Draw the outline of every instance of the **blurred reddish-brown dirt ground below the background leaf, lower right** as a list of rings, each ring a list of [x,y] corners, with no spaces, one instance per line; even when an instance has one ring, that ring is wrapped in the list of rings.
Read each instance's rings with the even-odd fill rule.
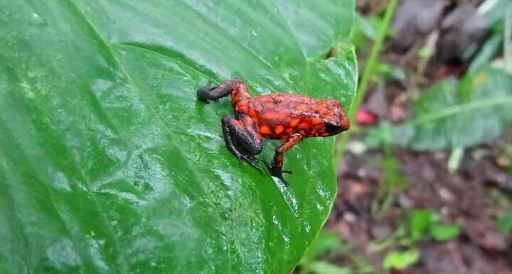
[[[499,197],[510,197],[512,179],[508,172],[485,156],[474,159],[469,151],[460,170],[450,174],[446,153],[415,153],[398,150],[395,157],[410,182],[407,190],[396,194],[392,207],[377,220],[372,217],[382,170],[383,155],[378,151],[353,155],[340,163],[339,191],[333,213],[326,225],[365,257],[380,272],[385,253],[372,252],[371,243],[385,239],[406,219],[407,209],[437,209],[441,219],[457,224],[462,233],[447,243],[421,241],[421,259],[404,273],[486,274],[512,273],[512,241],[496,229]]]

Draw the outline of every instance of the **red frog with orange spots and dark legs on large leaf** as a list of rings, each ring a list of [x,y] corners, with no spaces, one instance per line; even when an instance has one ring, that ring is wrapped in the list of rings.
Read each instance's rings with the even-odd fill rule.
[[[234,116],[223,116],[221,127],[225,146],[242,162],[258,170],[263,139],[281,140],[274,150],[274,157],[265,163],[270,175],[277,177],[288,186],[284,173],[284,153],[297,143],[311,137],[335,136],[350,128],[350,121],[343,106],[335,99],[315,99],[306,95],[284,92],[251,96],[247,84],[239,78],[211,82],[197,89],[199,101],[218,102],[230,96]]]

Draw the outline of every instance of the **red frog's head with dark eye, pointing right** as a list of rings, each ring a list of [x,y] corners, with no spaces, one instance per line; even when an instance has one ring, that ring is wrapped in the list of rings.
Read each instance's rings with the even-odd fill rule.
[[[336,100],[325,100],[319,111],[324,121],[326,136],[333,136],[350,128],[350,121],[343,106]]]

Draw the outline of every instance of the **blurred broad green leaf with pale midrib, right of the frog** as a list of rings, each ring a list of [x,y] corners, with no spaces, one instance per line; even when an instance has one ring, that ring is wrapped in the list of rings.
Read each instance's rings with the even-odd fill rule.
[[[512,75],[489,69],[459,84],[440,82],[413,108],[415,119],[394,128],[395,143],[415,150],[475,146],[512,123]]]

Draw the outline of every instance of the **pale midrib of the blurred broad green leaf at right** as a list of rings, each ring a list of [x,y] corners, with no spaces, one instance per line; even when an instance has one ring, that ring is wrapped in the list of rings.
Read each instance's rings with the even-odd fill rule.
[[[494,99],[479,100],[476,102],[470,102],[466,104],[457,104],[454,106],[444,107],[443,109],[428,114],[418,116],[407,124],[411,126],[417,126],[420,124],[426,124],[431,121],[445,119],[452,115],[461,114],[463,112],[474,111],[476,109],[485,109],[491,106],[498,106],[500,104],[512,104],[512,96],[499,97]]]

